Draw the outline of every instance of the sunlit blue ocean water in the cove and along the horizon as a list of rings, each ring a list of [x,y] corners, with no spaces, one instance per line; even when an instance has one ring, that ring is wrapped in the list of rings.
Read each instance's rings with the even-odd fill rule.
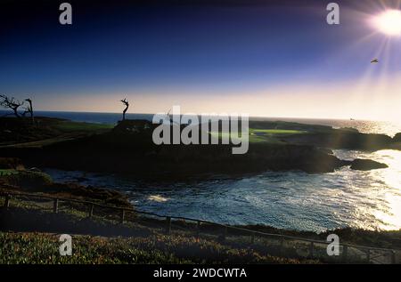
[[[116,124],[120,114],[37,112],[37,116]],[[151,120],[152,115],[127,118]],[[401,132],[386,122],[266,117],[306,124],[354,127],[363,133]],[[181,215],[229,224],[266,224],[291,230],[320,232],[353,227],[368,230],[401,228],[401,151],[334,150],[342,159],[370,158],[389,168],[359,172],[343,167],[334,173],[299,171],[258,173],[240,178],[215,177],[199,181],[145,182],[118,174],[45,169],[54,181],[80,181],[117,189],[136,208],[159,214]]]

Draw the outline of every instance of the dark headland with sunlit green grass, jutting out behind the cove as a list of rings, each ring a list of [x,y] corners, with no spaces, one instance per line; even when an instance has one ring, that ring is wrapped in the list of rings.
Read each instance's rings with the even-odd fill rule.
[[[47,166],[102,173],[129,173],[146,177],[201,175],[208,173],[258,173],[266,170],[303,170],[327,173],[351,162],[331,154],[332,148],[388,149],[397,141],[381,134],[332,129],[323,125],[284,122],[250,122],[250,149],[233,155],[232,145],[155,145],[152,125],[144,120],[125,120],[110,125],[73,123],[44,118],[26,139],[6,139],[0,156],[20,157],[29,166]],[[14,132],[15,129],[6,129]],[[25,131],[22,131],[25,132]],[[33,132],[29,135],[30,132]],[[46,133],[48,138],[38,140]],[[213,135],[211,133],[210,135]],[[18,138],[17,138],[18,137]],[[221,137],[221,136],[220,136]],[[210,136],[211,138],[211,136]],[[381,168],[372,162],[364,169]],[[353,168],[357,168],[354,165]]]

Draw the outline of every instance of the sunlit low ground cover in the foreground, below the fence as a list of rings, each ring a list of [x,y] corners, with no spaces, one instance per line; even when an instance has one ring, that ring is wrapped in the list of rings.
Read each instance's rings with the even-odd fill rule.
[[[59,236],[0,233],[0,263],[299,263],[231,248],[200,238],[155,235],[147,238],[73,236],[72,255],[59,254]],[[315,262],[315,261],[305,261]]]

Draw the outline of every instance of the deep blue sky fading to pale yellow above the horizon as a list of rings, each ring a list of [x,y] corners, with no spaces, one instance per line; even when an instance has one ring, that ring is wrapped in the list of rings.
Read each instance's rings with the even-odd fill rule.
[[[399,120],[394,1],[59,1],[0,4],[0,93],[35,109]],[[372,64],[371,60],[379,59]]]

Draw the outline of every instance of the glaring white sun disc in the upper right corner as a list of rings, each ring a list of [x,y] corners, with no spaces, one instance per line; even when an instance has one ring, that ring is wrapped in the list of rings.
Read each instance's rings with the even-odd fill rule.
[[[401,11],[388,10],[373,18],[373,25],[388,36],[401,35]]]

